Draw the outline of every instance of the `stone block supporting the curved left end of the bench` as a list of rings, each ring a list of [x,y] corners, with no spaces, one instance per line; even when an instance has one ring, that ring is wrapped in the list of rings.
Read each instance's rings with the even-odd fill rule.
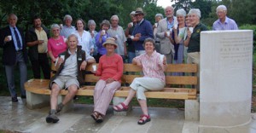
[[[26,91],[26,107],[35,109],[47,106],[49,106],[49,95],[40,95]]]

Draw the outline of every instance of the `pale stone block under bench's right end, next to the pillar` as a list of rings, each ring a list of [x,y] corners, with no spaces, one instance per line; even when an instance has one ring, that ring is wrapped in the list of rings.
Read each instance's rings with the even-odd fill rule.
[[[185,100],[185,120],[199,120],[199,100]]]

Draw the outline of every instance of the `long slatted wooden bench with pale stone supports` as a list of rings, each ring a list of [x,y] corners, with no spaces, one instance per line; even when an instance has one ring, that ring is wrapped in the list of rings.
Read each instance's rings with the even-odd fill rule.
[[[52,67],[52,69],[55,69],[55,68]],[[89,84],[89,85],[82,86],[79,89],[79,92],[77,95],[93,95],[95,86],[91,84],[96,84],[99,77],[96,77],[94,74],[90,74],[90,70],[91,70],[91,65],[86,67],[85,71],[88,72],[89,74],[86,74],[84,79],[85,84]],[[142,71],[141,68],[135,65],[132,65],[132,64],[124,65],[124,75],[121,78],[122,86],[114,94],[113,105],[116,105],[119,102],[125,100],[125,97],[128,95],[130,90],[129,84],[131,84],[134,78],[142,77],[142,75],[140,75],[141,71]],[[195,86],[197,84],[197,77],[192,76],[192,75],[196,75],[192,73],[197,72],[197,66],[195,64],[178,64],[178,65],[169,64],[167,66],[166,72],[168,73],[166,74],[167,75],[166,86],[168,87],[160,91],[145,92],[145,95],[147,96],[147,98],[185,100],[186,119],[198,119],[199,109],[195,107],[195,104],[198,104],[197,93],[196,93],[196,89],[192,89],[192,86]],[[183,72],[185,73],[185,76],[172,76],[172,72]],[[187,76],[187,75],[190,75],[190,76]],[[51,90],[49,90],[48,85],[49,85],[49,80],[46,80],[46,79],[30,79],[26,82],[25,89],[26,89],[27,107],[32,109],[32,108],[42,107],[44,105],[49,105],[49,95]],[[179,86],[183,86],[183,88],[178,88]],[[61,90],[59,101],[61,101],[65,95],[67,95],[67,90]],[[124,97],[124,98],[119,98],[119,97]],[[187,106],[187,101],[189,106]],[[72,105],[72,103],[70,104]],[[191,106],[194,106],[195,109],[193,107],[191,108]],[[193,113],[192,117],[190,113]]]

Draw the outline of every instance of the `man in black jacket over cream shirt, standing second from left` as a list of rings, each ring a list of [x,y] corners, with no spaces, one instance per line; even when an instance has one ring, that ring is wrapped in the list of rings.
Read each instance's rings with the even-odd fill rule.
[[[41,78],[40,69],[44,73],[44,78],[49,79],[50,68],[47,56],[47,43],[49,39],[49,30],[42,26],[39,16],[33,18],[32,28],[26,32],[26,45],[29,47],[28,55],[32,64],[34,78]]]

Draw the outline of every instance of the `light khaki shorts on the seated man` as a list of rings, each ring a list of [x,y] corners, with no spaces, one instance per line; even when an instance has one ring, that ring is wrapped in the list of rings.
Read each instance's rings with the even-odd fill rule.
[[[77,85],[78,88],[79,88],[79,81],[76,77],[71,77],[71,76],[57,76],[57,78],[55,78],[54,81],[52,81],[50,83],[50,88],[52,86],[52,84],[58,84],[58,86],[61,88],[61,89],[66,89],[70,86],[70,85]]]

